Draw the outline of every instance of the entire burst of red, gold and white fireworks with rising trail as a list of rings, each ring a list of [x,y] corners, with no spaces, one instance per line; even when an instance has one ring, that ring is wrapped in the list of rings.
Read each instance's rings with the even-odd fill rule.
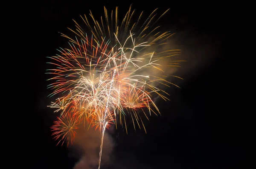
[[[49,107],[60,112],[52,126],[54,138],[62,144],[64,140],[72,143],[77,125],[87,121],[88,127],[94,126],[102,132],[99,168],[105,129],[120,123],[127,132],[125,117],[129,115],[134,129],[138,126],[145,130],[141,116],[148,119],[147,113],[160,114],[153,98],[168,100],[165,96],[168,94],[158,86],[175,85],[165,80],[167,75],[162,67],[179,67],[178,62],[183,61],[173,60],[169,65],[161,61],[180,53],[160,50],[173,33],[160,32],[160,26],[154,25],[167,11],[157,17],[155,9],[140,22],[143,12],[134,18],[135,10],[130,6],[121,24],[118,7],[110,15],[105,7],[104,11],[105,17],[100,21],[90,12],[92,24],[86,15],[81,16],[90,30],[88,34],[74,20],[76,29],[70,30],[76,36],[61,34],[69,40],[69,48],[60,48],[59,54],[49,57],[53,68],[47,70],[53,75],[49,79],[52,83],[48,88],[53,90],[49,97],[57,97]]]

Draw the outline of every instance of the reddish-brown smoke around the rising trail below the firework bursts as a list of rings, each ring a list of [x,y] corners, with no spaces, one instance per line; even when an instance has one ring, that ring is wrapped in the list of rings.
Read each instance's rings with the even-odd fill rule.
[[[70,147],[70,156],[79,158],[73,169],[97,169],[99,165],[101,132],[93,127],[88,129],[87,126],[87,123],[85,125],[83,123],[80,124],[79,129],[76,130],[77,135],[73,146]],[[108,133],[109,131],[111,129],[105,131],[104,134],[101,166],[111,163],[114,142]]]

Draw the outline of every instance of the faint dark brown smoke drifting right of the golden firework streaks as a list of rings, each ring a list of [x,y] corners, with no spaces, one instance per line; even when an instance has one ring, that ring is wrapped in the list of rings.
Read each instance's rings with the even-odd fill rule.
[[[169,45],[180,49],[180,55],[176,58],[186,60],[175,72],[185,80],[192,78],[204,67],[210,66],[220,57],[221,41],[218,35],[184,30],[177,32],[169,40]]]

